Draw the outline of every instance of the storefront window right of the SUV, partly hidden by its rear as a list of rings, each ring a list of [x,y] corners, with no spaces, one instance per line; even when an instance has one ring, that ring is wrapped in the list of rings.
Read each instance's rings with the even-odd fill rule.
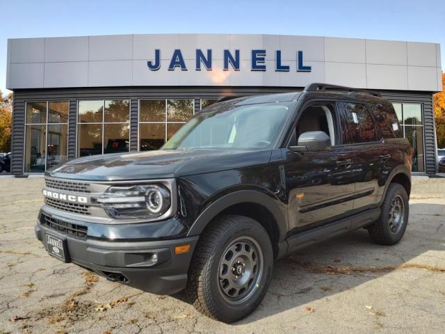
[[[425,171],[425,156],[423,154],[423,118],[422,105],[414,103],[394,103],[397,117],[401,123],[403,136],[411,143],[414,150],[412,156],[412,171]]]

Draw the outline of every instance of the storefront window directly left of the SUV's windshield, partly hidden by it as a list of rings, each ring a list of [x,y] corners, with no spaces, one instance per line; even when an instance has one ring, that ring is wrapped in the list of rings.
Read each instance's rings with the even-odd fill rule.
[[[140,100],[139,150],[158,150],[193,117],[195,100]]]

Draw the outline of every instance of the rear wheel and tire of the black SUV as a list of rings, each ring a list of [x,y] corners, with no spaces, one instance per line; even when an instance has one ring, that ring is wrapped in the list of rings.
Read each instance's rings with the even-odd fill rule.
[[[368,229],[371,239],[381,245],[395,245],[401,241],[408,224],[409,198],[401,184],[391,183],[382,203],[378,221]]]

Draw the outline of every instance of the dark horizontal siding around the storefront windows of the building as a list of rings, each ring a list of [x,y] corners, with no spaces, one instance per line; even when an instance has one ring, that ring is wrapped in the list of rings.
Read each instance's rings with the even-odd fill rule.
[[[67,88],[67,89],[27,89],[15,90],[13,114],[13,174],[23,173],[24,160],[24,102],[31,100],[51,101],[70,100],[70,125],[68,154],[75,156],[76,147],[76,101],[95,99],[131,99],[130,149],[138,148],[138,99],[143,98],[194,98],[195,112],[200,110],[200,99],[218,99],[227,95],[246,96],[265,93],[285,93],[302,88],[282,87],[116,87],[116,88]],[[383,97],[391,102],[415,102],[423,104],[424,148],[426,154],[426,173],[433,174],[436,169],[434,118],[432,113],[432,94],[430,92],[403,92],[381,90]]]

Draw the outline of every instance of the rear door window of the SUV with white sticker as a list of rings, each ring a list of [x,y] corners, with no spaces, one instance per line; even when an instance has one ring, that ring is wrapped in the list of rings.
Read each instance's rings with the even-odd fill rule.
[[[343,143],[368,143],[377,141],[377,133],[371,114],[366,105],[343,103],[342,137]]]

